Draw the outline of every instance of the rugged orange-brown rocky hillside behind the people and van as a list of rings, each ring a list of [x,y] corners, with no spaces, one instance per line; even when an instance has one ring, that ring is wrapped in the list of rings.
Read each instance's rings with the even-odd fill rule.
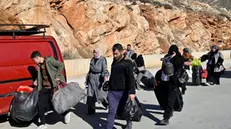
[[[205,51],[231,48],[231,13],[185,0],[1,0],[0,24],[47,24],[65,58],[105,56],[119,42],[142,54],[164,53],[171,44]],[[1,28],[6,29],[6,28]]]

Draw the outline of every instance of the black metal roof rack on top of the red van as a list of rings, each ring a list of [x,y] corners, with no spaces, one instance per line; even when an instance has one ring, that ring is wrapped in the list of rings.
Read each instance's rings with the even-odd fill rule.
[[[46,28],[48,27],[49,25],[43,24],[0,24],[0,36],[12,35],[13,38],[16,38],[16,35],[28,36],[42,33],[45,38]],[[11,30],[7,30],[7,28],[11,28]]]

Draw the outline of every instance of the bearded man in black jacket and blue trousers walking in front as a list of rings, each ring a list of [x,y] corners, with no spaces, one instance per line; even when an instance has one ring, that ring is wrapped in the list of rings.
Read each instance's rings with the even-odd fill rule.
[[[113,62],[111,65],[111,76],[109,79],[109,114],[107,129],[113,129],[115,116],[118,105],[121,101],[135,99],[135,84],[133,76],[133,64],[130,59],[123,55],[123,47],[121,44],[115,44],[112,48]],[[126,129],[132,129],[131,120],[127,120]]]

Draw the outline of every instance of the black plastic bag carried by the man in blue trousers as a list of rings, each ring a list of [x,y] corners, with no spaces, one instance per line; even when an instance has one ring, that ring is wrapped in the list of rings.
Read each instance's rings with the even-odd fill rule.
[[[142,115],[143,108],[139,100],[135,98],[135,100],[131,101],[128,98],[120,118],[123,120],[132,120],[139,122],[141,120]]]

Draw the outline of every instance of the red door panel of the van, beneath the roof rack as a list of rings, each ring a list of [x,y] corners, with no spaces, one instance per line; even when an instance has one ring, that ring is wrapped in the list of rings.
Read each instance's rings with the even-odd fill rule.
[[[30,56],[36,50],[42,56],[58,58],[51,41],[0,40],[0,96],[14,92],[20,85],[32,84],[32,77],[37,76],[37,66]],[[0,114],[8,111],[9,97],[0,97],[0,103]]]

